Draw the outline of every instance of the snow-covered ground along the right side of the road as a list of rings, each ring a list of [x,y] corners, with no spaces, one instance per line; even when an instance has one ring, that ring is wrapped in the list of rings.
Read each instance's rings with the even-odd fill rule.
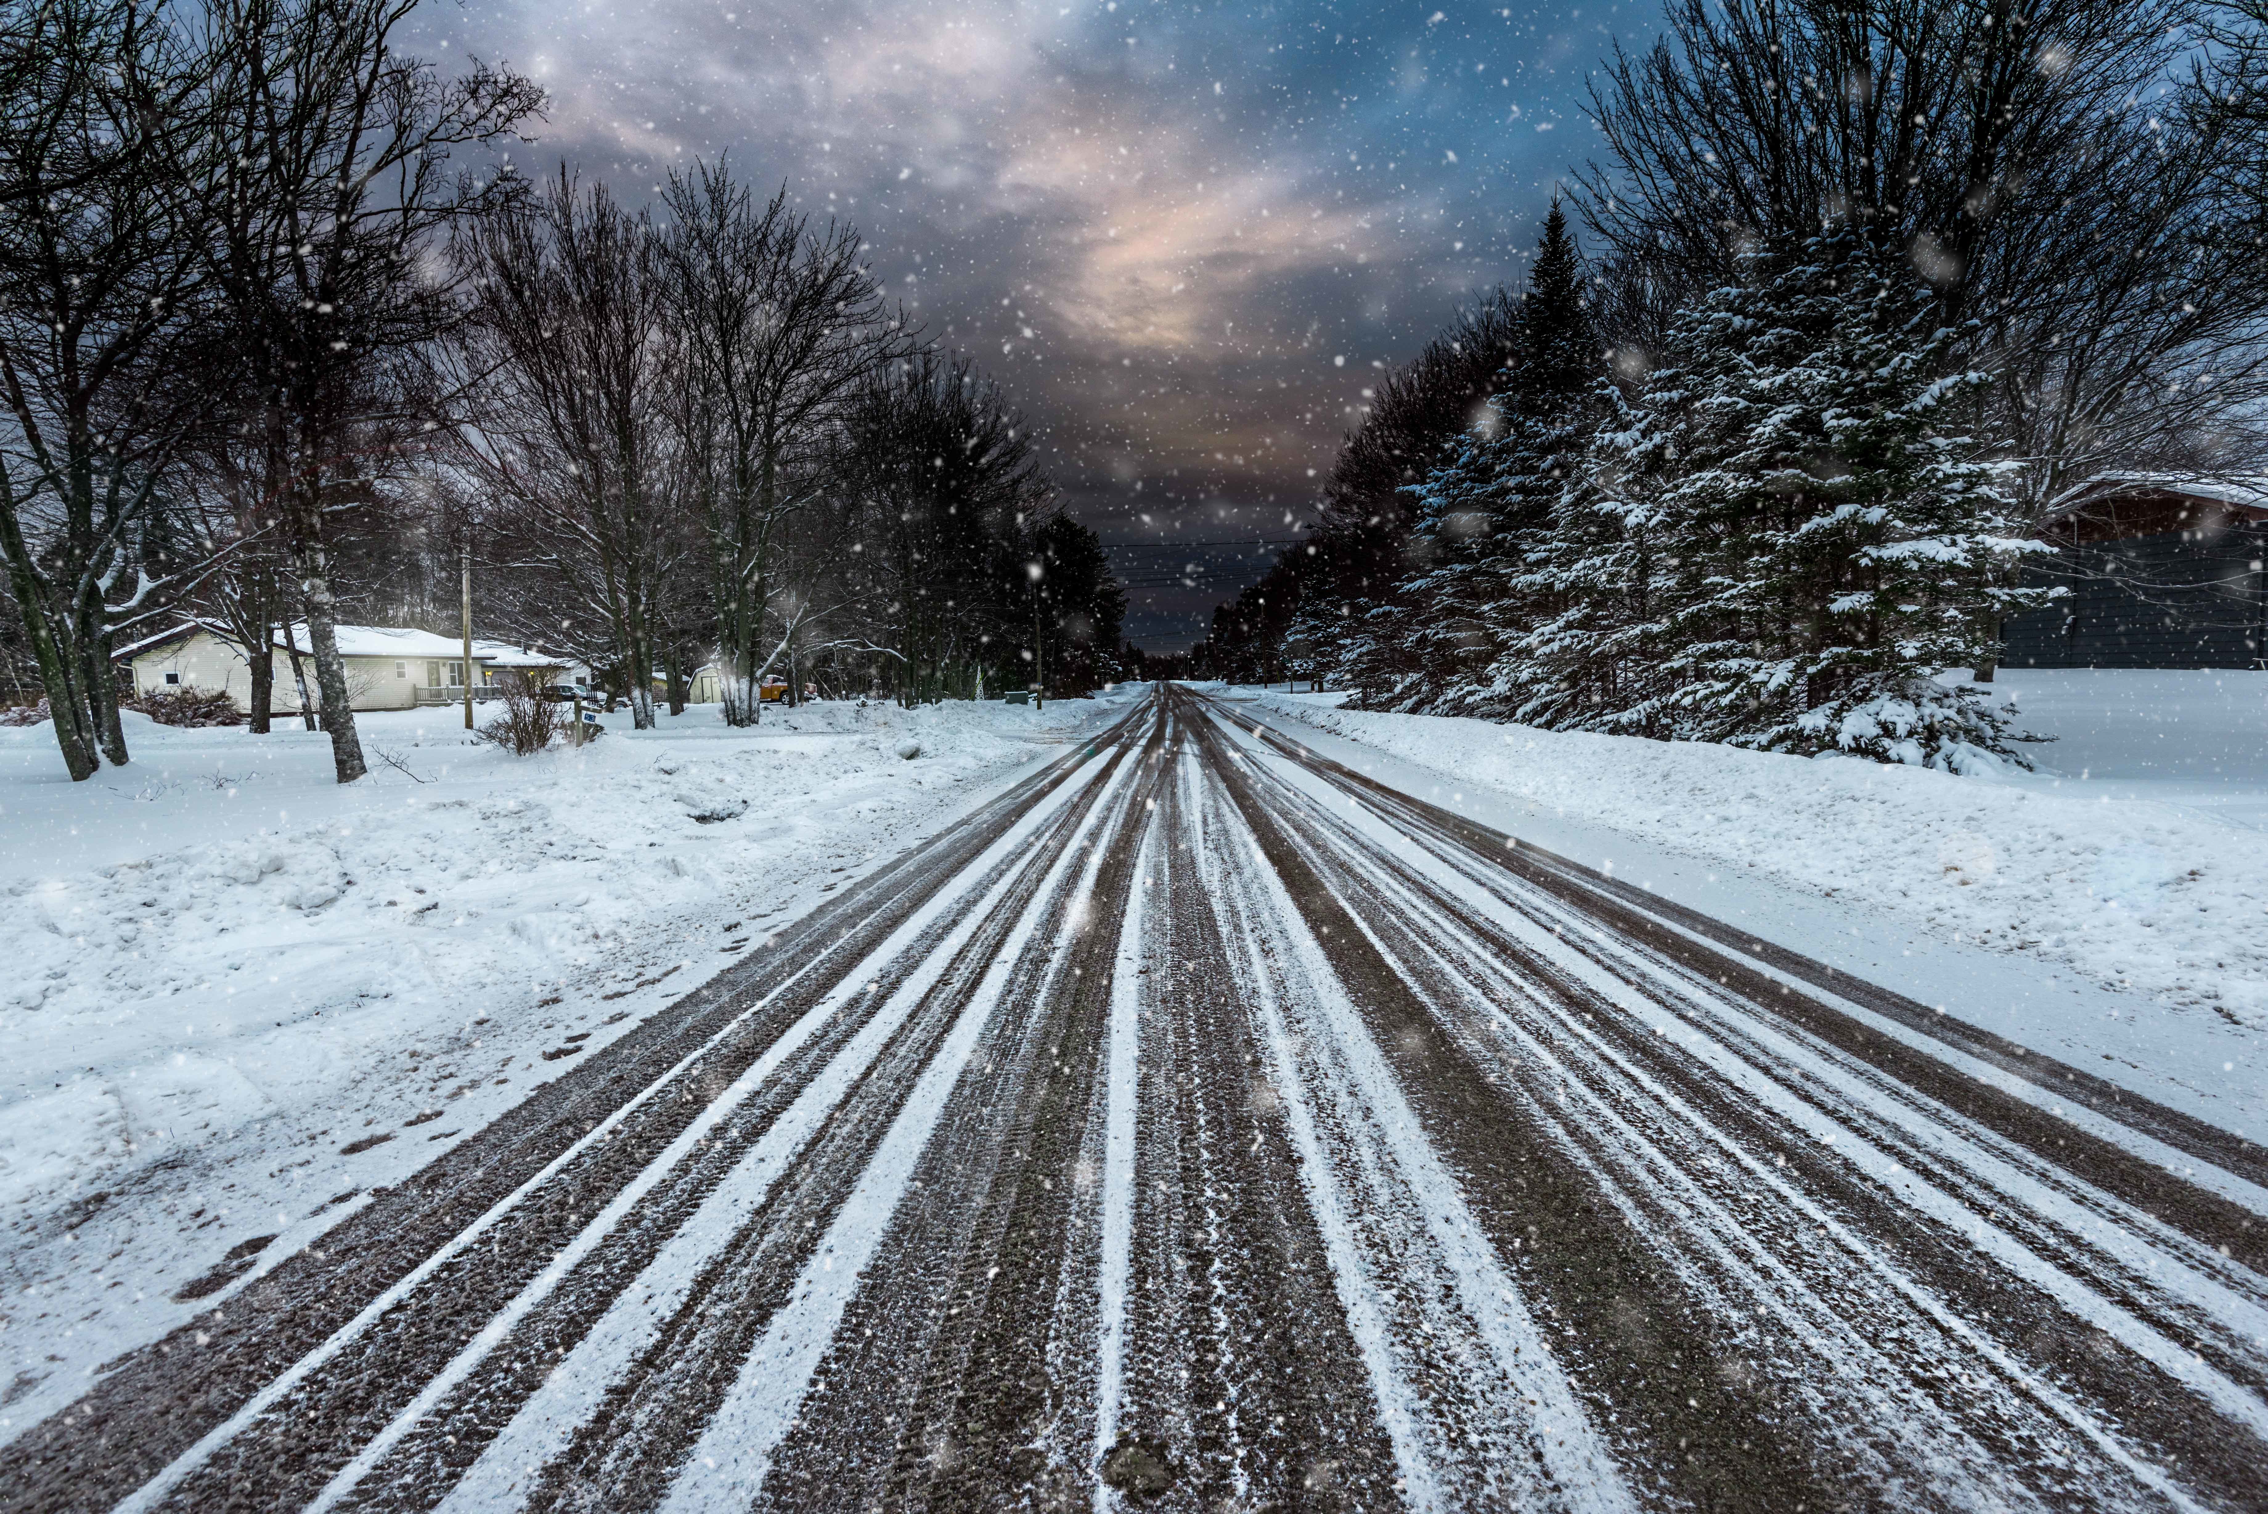
[[[2268,674],[2005,672],[2041,772],[1955,779],[1263,695],[1311,726],[1726,869],[2268,1026]],[[1803,942],[1787,942],[1803,949]],[[2254,1037],[2245,1037],[2248,1042]]]

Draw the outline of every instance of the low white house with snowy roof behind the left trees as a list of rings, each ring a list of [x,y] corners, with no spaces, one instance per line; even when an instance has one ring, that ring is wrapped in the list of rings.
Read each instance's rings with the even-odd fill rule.
[[[315,665],[306,626],[290,626],[306,672],[308,699],[320,701]],[[417,704],[449,704],[465,697],[465,642],[411,626],[338,626],[338,651],[347,663],[347,692],[356,710],[406,710]],[[274,704],[284,713],[299,710],[299,683],[293,676],[290,642],[277,631],[268,649],[274,667]],[[122,647],[118,663],[134,674],[136,692],[166,688],[220,688],[236,708],[252,706],[252,665],[245,649],[211,622],[181,622],[170,631]],[[474,638],[474,688],[497,672],[513,670],[538,683],[590,683],[590,667],[528,647]]]

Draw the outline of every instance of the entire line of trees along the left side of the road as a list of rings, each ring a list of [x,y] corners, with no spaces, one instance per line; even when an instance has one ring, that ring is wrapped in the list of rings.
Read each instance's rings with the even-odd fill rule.
[[[304,626],[354,781],[340,615],[456,629],[463,565],[483,631],[590,658],[642,726],[708,661],[735,722],[819,665],[903,699],[1116,674],[1100,547],[855,229],[723,166],[649,211],[524,179],[542,93],[401,52],[413,5],[0,7],[0,640],[73,779],[127,760],[113,649],[193,611]]]

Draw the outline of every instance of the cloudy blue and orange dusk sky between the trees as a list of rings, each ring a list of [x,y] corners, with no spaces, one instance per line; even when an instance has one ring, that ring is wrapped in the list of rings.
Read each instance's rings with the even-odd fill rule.
[[[640,200],[728,154],[857,225],[891,297],[1043,429],[1132,586],[1127,636],[1173,649],[1313,518],[1379,365],[1522,279],[1554,184],[1592,152],[1590,73],[1653,18],[440,0],[411,41],[551,91],[526,170],[565,159]]]

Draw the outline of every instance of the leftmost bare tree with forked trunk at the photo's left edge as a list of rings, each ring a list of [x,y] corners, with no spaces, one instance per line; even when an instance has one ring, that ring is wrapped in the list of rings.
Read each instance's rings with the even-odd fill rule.
[[[195,134],[206,59],[138,0],[9,11],[0,84],[0,556],[70,776],[127,760],[111,631],[202,395]]]

